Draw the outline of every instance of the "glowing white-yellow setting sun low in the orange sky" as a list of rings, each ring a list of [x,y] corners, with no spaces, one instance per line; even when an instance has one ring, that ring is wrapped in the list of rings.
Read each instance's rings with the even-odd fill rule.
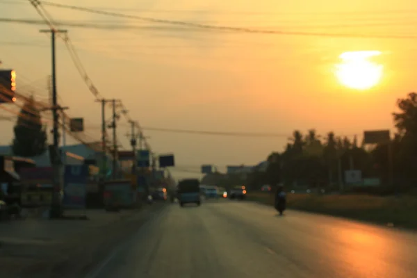
[[[338,81],[348,88],[367,90],[373,88],[382,78],[384,67],[369,59],[379,56],[379,51],[352,51],[339,56],[342,62],[336,65]]]

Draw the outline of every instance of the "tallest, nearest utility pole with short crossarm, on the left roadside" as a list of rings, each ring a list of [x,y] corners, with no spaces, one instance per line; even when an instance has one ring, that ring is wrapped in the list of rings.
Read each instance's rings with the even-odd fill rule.
[[[55,152],[55,155],[51,156],[53,159],[51,159],[51,164],[54,169],[54,195],[52,197],[51,202],[51,211],[50,211],[50,217],[51,218],[60,218],[60,216],[63,214],[63,206],[62,206],[62,191],[63,191],[63,184],[62,180],[63,172],[60,170],[62,161],[60,160],[60,154],[58,152],[58,146],[59,146],[59,132],[58,132],[58,109],[60,107],[58,106],[57,101],[57,92],[56,92],[56,60],[55,60],[55,37],[56,33],[67,33],[67,30],[57,30],[54,28],[48,29],[48,30],[41,30],[40,33],[51,33],[51,62],[52,62],[52,73],[51,73],[51,79],[52,79],[52,114],[54,118],[54,145],[52,152]],[[51,154],[49,154],[51,155]]]

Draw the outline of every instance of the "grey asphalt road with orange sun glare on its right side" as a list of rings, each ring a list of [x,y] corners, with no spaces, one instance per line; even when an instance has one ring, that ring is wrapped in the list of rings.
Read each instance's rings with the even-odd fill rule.
[[[88,277],[417,277],[417,234],[249,202],[172,204]]]

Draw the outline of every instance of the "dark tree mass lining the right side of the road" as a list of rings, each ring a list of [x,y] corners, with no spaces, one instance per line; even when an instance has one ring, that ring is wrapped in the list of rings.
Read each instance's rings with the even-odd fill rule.
[[[398,133],[390,142],[394,182],[398,184],[397,188],[409,190],[417,188],[417,93],[411,92],[407,97],[398,99],[397,105],[399,111],[393,113],[393,120]],[[275,183],[279,177],[280,181],[291,187],[295,184],[315,186],[317,183],[325,183],[323,186],[331,188],[332,183],[337,181],[334,178],[337,177],[340,160],[341,173],[353,167],[354,170],[361,170],[363,178],[378,178],[382,181],[383,186],[379,189],[346,187],[351,192],[389,192],[384,191],[389,189],[387,143],[366,149],[363,140],[358,142],[357,136],[351,141],[346,136],[339,137],[329,132],[321,140],[315,129],[309,129],[306,136],[303,136],[302,131],[295,130],[288,140],[284,152],[274,152],[268,156],[268,161],[272,162],[268,170],[265,173],[257,172],[253,177],[268,183]],[[280,161],[279,165],[277,160]]]

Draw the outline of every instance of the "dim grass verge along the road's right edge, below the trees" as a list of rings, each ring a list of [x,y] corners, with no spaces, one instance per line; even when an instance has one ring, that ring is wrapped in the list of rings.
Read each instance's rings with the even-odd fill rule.
[[[247,199],[274,204],[274,196],[268,193],[248,193]],[[300,211],[417,229],[417,197],[413,196],[288,194],[287,206]]]

